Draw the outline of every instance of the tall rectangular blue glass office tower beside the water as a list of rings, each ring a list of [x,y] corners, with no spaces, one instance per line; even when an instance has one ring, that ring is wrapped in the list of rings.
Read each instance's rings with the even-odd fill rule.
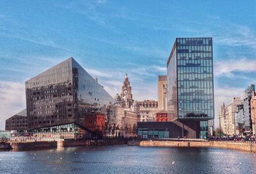
[[[176,38],[167,62],[168,114],[195,122],[198,138],[207,138],[214,119],[212,38]]]

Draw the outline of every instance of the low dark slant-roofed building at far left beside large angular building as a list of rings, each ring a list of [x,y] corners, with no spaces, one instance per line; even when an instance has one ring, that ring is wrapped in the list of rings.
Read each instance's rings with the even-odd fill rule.
[[[26,131],[28,130],[28,117],[26,109],[13,115],[5,121],[6,131]]]

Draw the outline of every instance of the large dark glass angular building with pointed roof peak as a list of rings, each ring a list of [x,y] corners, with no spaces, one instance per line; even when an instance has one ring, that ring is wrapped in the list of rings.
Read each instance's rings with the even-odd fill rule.
[[[47,136],[90,136],[88,111],[115,100],[73,58],[26,81],[28,129]]]

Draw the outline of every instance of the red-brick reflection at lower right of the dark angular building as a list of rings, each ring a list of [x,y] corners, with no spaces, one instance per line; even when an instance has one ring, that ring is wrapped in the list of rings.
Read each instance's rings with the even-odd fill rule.
[[[87,113],[84,117],[85,127],[90,131],[100,131],[104,135],[105,130],[105,115],[102,113],[94,112]]]

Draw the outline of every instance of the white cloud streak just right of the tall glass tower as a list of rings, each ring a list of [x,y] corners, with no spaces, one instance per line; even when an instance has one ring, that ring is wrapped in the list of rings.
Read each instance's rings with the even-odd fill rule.
[[[256,60],[249,59],[227,59],[216,61],[214,65],[214,75],[224,75],[234,77],[234,72],[256,72]]]

